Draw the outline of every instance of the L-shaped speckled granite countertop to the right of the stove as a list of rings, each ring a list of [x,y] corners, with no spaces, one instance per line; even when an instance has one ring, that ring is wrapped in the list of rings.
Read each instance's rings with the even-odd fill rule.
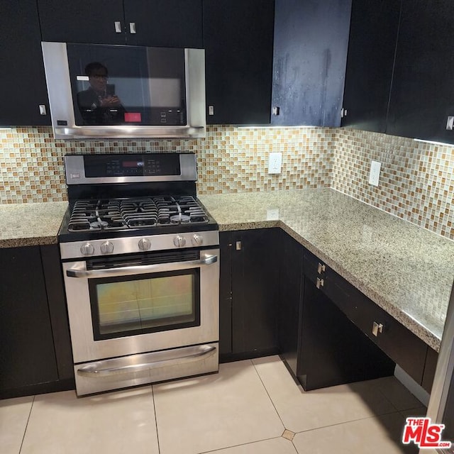
[[[439,350],[454,242],[333,189],[202,195],[220,231],[281,227]]]

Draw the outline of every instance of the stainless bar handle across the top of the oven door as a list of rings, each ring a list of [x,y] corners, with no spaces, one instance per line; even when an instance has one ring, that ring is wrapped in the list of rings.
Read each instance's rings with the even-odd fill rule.
[[[204,265],[212,265],[218,261],[217,255],[208,255],[201,260],[189,260],[188,262],[171,262],[157,265],[139,265],[132,267],[106,268],[105,270],[84,270],[70,268],[66,270],[68,277],[116,277],[143,275],[148,272],[186,270],[187,268],[198,268]]]

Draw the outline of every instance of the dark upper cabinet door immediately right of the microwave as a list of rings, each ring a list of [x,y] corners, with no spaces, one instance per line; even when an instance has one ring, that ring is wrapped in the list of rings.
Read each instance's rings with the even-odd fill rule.
[[[204,0],[207,123],[270,123],[274,4]]]

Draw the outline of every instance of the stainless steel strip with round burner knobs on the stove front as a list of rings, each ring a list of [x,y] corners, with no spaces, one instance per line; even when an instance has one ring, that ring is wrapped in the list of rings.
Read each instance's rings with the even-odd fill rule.
[[[60,253],[62,259],[73,259],[217,245],[219,245],[218,231],[203,231],[72,241],[69,243],[60,243]]]

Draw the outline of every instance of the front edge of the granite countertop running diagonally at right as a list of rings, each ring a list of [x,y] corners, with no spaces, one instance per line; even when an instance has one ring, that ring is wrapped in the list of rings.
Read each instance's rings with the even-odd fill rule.
[[[382,297],[382,295],[373,292],[369,287],[367,287],[367,285],[363,284],[360,279],[345,270],[342,265],[332,260],[328,255],[323,253],[323,251],[319,250],[319,248],[314,247],[314,245],[309,243],[309,241],[293,231],[292,228],[289,228],[289,226],[287,226],[282,221],[279,222],[279,227],[282,228],[282,230],[284,230],[286,233],[288,233],[289,236],[292,236],[294,240],[297,240],[298,243],[303,245],[307,250],[309,250],[309,252],[319,257],[320,260],[323,260],[323,262],[325,262],[328,267],[331,267],[331,269],[337,272],[338,275],[341,275],[344,279],[350,282],[350,284],[352,284],[354,287],[360,290],[360,292],[365,294],[367,298],[372,299],[372,301],[377,304],[377,306],[380,306],[389,315],[394,317],[394,319],[402,323],[402,325],[404,325],[412,333],[418,336],[421,341],[425,342],[427,345],[429,345],[429,347],[433,348],[433,350],[436,350],[437,352],[440,350],[441,339],[437,338],[433,333],[431,333],[431,331],[428,331],[428,329],[424,328],[421,323],[413,319],[411,316],[409,316],[409,314],[406,314],[406,312],[402,311],[391,302],[387,301],[387,299]]]

